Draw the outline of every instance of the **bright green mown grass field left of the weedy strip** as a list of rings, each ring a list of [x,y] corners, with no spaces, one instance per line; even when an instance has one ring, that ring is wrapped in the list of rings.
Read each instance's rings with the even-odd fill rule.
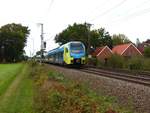
[[[0,113],[32,113],[33,87],[27,64],[0,65]]]

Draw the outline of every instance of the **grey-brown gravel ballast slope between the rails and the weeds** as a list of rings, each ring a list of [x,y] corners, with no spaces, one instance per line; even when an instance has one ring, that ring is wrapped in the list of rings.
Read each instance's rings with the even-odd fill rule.
[[[97,76],[74,69],[53,65],[49,65],[49,67],[71,79],[90,84],[92,89],[98,93],[118,97],[119,103],[133,107],[134,113],[150,113],[150,87]]]

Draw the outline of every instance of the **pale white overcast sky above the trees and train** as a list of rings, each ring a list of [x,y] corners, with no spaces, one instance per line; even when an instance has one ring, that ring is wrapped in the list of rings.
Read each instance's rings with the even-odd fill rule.
[[[123,33],[133,42],[150,38],[150,0],[0,0],[0,14],[0,26],[29,26],[28,55],[40,49],[37,23],[44,24],[47,50],[57,47],[54,36],[74,22],[104,27],[111,35]]]

